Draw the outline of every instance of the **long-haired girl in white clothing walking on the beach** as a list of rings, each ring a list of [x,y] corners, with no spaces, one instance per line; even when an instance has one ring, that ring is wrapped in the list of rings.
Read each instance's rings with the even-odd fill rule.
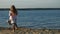
[[[17,10],[14,5],[11,6],[10,11],[9,11],[9,24],[13,25],[13,32],[15,29],[17,29],[17,24],[16,24],[16,19],[17,19]]]

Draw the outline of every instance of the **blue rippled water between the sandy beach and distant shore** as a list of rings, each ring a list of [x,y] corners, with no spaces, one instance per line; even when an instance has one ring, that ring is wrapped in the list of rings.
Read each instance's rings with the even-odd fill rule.
[[[8,27],[8,11],[0,10],[0,26]],[[60,29],[60,10],[18,10],[19,27]]]

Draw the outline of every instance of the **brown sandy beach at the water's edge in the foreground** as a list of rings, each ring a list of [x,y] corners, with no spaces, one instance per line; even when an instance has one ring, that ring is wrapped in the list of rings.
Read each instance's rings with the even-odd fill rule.
[[[60,34],[60,29],[30,29],[19,27],[12,32],[11,28],[0,27],[0,34]]]

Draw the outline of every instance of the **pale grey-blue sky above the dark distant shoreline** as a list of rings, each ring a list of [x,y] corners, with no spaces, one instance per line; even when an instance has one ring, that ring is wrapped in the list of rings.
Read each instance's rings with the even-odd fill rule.
[[[0,0],[0,8],[60,8],[60,0]]]

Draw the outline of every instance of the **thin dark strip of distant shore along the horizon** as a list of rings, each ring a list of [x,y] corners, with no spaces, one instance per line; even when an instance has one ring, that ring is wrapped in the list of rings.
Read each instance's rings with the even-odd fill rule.
[[[9,10],[9,8],[0,8],[0,10]],[[17,10],[60,10],[60,8],[17,8]]]

